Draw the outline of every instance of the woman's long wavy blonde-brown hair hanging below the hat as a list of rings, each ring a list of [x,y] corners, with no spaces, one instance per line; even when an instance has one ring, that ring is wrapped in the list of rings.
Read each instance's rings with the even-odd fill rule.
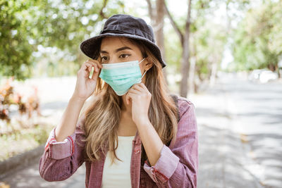
[[[149,120],[159,134],[161,141],[168,144],[173,138],[176,138],[178,109],[169,95],[166,82],[164,82],[161,63],[140,40],[129,40],[136,44],[140,48],[142,56],[153,64],[152,68],[147,70],[145,80],[145,86],[152,94],[148,112]],[[116,156],[115,150],[118,147],[117,130],[121,119],[122,104],[122,97],[118,96],[109,84],[98,77],[92,100],[87,101],[87,107],[83,112],[85,113],[83,128],[85,130],[86,160],[99,160],[101,157],[99,151],[102,151],[105,155],[104,149],[107,148],[112,151],[110,153],[111,163],[114,163],[115,158],[121,161]],[[147,154],[143,145],[141,153],[141,161],[144,164]]]

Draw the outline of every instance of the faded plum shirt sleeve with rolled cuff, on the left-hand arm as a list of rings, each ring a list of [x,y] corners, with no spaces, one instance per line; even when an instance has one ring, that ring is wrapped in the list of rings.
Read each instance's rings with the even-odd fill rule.
[[[82,125],[85,115],[81,115],[75,127],[75,132],[62,142],[56,141],[55,130],[51,130],[45,144],[44,153],[39,160],[39,174],[49,182],[66,180],[84,162],[83,150],[85,132]]]

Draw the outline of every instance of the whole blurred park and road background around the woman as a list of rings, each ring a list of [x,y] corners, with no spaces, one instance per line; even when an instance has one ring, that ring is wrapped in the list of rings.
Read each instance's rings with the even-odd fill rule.
[[[282,187],[282,1],[0,0],[0,187],[46,182],[39,157],[107,18],[143,18],[171,93],[196,108],[197,187]]]

